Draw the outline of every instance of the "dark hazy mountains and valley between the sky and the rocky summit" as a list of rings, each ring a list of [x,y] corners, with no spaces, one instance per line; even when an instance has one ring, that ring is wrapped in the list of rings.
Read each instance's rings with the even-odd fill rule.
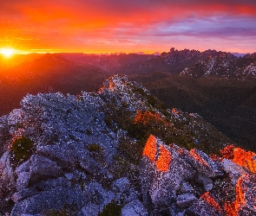
[[[255,54],[172,48],[159,56],[33,54],[23,60],[1,70],[0,116],[19,108],[27,93],[97,91],[103,79],[121,73],[147,86],[167,107],[198,112],[236,143],[256,149]],[[182,73],[185,68],[189,73]]]

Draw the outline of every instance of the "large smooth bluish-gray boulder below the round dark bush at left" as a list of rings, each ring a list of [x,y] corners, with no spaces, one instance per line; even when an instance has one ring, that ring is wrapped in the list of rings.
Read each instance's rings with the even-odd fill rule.
[[[30,157],[30,184],[38,181],[56,178],[61,174],[61,168],[56,162],[43,156],[33,155]]]

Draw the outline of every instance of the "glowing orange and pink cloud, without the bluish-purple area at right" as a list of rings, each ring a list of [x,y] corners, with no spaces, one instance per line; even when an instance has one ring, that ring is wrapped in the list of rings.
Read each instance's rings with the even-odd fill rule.
[[[187,43],[183,46],[188,48],[189,44],[192,44],[191,38],[187,37],[187,41],[184,41],[179,38],[182,35],[180,32],[177,33],[176,38],[171,37],[174,33],[160,37],[154,28],[157,29],[161,23],[171,26],[184,25],[185,22],[189,27],[189,22],[193,20],[205,21],[213,16],[224,15],[230,18],[251,17],[255,20],[256,3],[231,0],[214,2],[200,0],[179,2],[165,0],[1,1],[0,46],[4,44],[3,39],[7,38],[11,43],[17,43],[17,47],[27,49],[56,48],[68,51],[115,52],[139,51],[138,48],[142,48],[141,51],[145,51],[146,48],[157,51],[158,48],[158,51],[161,51],[161,48],[167,47],[168,41],[174,41],[178,45],[176,47]],[[225,21],[224,19],[222,22]],[[143,32],[146,34],[150,30],[156,34],[141,34]],[[200,33],[204,35],[203,31]],[[193,36],[191,32],[186,34],[182,36]],[[253,34],[250,33],[250,35]],[[200,35],[196,36],[200,37]],[[28,40],[23,40],[21,43],[18,38]],[[115,43],[114,46],[107,42],[111,40],[132,42],[123,47],[123,44]],[[202,46],[212,43],[213,41],[210,41]],[[226,46],[229,45],[226,43]],[[123,48],[126,50],[122,50]]]

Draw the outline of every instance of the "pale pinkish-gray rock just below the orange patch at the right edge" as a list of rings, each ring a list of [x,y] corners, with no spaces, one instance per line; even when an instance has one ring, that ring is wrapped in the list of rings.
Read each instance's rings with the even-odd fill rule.
[[[226,173],[230,175],[233,185],[236,185],[241,175],[248,174],[243,167],[228,159],[223,160],[222,166],[225,169]]]

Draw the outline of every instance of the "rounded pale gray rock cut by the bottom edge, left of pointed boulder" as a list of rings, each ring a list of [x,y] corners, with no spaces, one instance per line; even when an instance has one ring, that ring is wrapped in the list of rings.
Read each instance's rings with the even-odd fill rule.
[[[121,216],[148,216],[140,200],[134,200],[121,208]]]

